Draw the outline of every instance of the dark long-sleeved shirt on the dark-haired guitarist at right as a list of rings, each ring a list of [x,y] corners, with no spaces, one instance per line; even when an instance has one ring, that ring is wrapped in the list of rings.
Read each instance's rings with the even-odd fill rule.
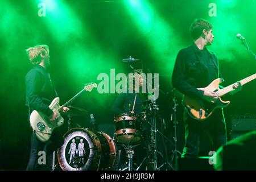
[[[179,51],[172,73],[172,85],[181,93],[201,98],[204,88],[218,78],[218,60],[207,48],[200,50],[195,43]]]

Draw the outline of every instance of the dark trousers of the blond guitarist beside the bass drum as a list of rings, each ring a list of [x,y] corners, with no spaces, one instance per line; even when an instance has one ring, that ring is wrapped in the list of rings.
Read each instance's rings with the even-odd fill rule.
[[[27,171],[32,170],[52,170],[50,162],[52,159],[49,159],[49,156],[52,156],[52,152],[59,148],[64,143],[64,139],[60,134],[58,129],[55,129],[52,133],[51,138],[47,142],[41,142],[36,138],[36,134],[33,132],[31,135],[31,148],[30,148],[30,158],[28,160]],[[38,160],[44,151],[46,154],[46,164],[39,164]]]

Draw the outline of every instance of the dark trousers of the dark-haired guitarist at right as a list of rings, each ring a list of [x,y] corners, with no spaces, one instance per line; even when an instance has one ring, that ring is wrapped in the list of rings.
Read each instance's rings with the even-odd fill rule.
[[[214,113],[205,121],[197,121],[184,113],[185,125],[185,146],[182,157],[195,157],[199,152],[204,151],[208,155],[209,151],[217,151],[222,144],[227,142],[226,124],[221,109]],[[202,143],[204,141],[204,143]],[[208,145],[208,147],[205,147]]]

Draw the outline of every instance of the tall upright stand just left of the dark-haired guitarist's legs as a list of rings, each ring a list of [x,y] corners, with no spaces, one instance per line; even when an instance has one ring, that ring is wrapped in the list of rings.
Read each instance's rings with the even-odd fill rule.
[[[177,158],[177,153],[179,153],[181,155],[181,153],[177,150],[177,114],[176,114],[176,111],[177,111],[177,106],[179,104],[177,104],[177,98],[176,98],[176,92],[175,90],[173,90],[174,92],[174,99],[172,101],[174,101],[174,107],[172,107],[172,110],[174,110],[174,118],[172,118],[172,115],[171,115],[171,120],[173,120],[174,122],[174,150],[172,151],[172,157],[171,157],[171,168],[175,170],[175,163],[176,163],[176,158]]]

